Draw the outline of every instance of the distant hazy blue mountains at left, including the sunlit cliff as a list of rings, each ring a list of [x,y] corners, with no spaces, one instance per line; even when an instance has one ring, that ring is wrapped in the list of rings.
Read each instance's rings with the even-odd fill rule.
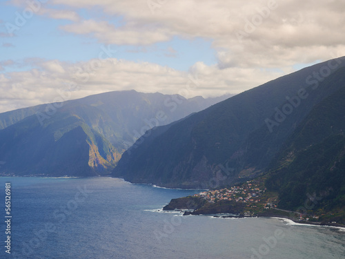
[[[0,114],[0,172],[108,175],[121,154],[154,126],[175,122],[228,96],[110,92]]]

